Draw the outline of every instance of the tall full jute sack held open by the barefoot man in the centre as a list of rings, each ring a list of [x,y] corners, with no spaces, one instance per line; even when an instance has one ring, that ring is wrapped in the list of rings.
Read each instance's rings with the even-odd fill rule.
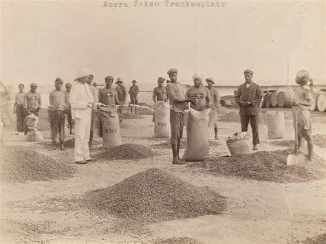
[[[182,159],[203,161],[209,155],[208,121],[210,109],[190,109],[187,118],[187,145]]]

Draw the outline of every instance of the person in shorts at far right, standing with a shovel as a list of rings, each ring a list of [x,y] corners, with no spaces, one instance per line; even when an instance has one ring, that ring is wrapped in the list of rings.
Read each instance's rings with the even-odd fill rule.
[[[308,162],[313,162],[314,140],[312,139],[312,116],[309,108],[313,105],[312,91],[314,90],[312,79],[309,78],[308,71],[301,70],[296,74],[296,84],[294,89],[294,98],[292,102],[293,115],[297,116],[296,124],[298,126],[298,145],[301,147],[302,137],[307,140]],[[296,126],[295,124],[293,124]]]

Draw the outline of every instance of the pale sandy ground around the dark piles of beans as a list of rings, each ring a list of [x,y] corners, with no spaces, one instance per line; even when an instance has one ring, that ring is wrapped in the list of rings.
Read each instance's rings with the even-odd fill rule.
[[[153,138],[152,116],[143,116],[144,119],[141,120],[124,120],[125,128],[121,130],[123,142],[150,146],[166,141]],[[314,122],[313,133],[325,134],[326,123],[321,123],[325,116],[318,116],[321,117],[318,122]],[[287,130],[282,140],[294,139],[292,121],[285,120],[285,123]],[[241,126],[237,122],[220,122],[221,139],[218,145],[210,147],[210,155],[228,155],[225,138],[240,129]],[[285,148],[270,145],[270,140],[266,138],[266,129],[267,125],[260,126],[259,150],[274,151]],[[45,132],[43,136],[45,140],[50,141],[50,133]],[[70,137],[72,136],[68,138]],[[212,129],[210,140],[213,141]],[[4,141],[7,145],[33,144],[24,142],[23,136],[8,131]],[[76,166],[73,149],[61,152],[49,151],[41,145],[34,146],[39,153],[50,155],[54,159],[65,157],[69,164],[78,168],[78,173],[63,181],[1,184],[1,223],[27,223],[34,226],[34,234],[30,236],[23,231],[2,233],[0,243],[14,238],[47,243],[150,243],[173,236],[192,237],[202,243],[294,243],[326,232],[325,180],[277,184],[201,175],[184,166],[173,166],[171,151],[158,147],[154,147],[154,150],[162,155],[152,159],[116,160]],[[287,148],[290,147],[292,145]],[[91,154],[95,151],[91,151]],[[316,148],[316,153],[325,159],[323,150]],[[213,188],[228,197],[227,210],[217,216],[207,215],[153,223],[147,226],[151,230],[148,234],[118,234],[110,229],[113,217],[98,217],[74,204],[67,204],[68,199],[80,197],[88,190],[112,186],[151,167],[174,173],[195,186]]]

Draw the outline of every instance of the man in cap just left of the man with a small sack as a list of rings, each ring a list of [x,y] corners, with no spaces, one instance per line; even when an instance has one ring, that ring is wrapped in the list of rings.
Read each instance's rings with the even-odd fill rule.
[[[19,93],[14,96],[14,113],[17,117],[17,135],[21,135],[24,132],[25,124],[25,111],[24,111],[24,85],[19,84]]]

